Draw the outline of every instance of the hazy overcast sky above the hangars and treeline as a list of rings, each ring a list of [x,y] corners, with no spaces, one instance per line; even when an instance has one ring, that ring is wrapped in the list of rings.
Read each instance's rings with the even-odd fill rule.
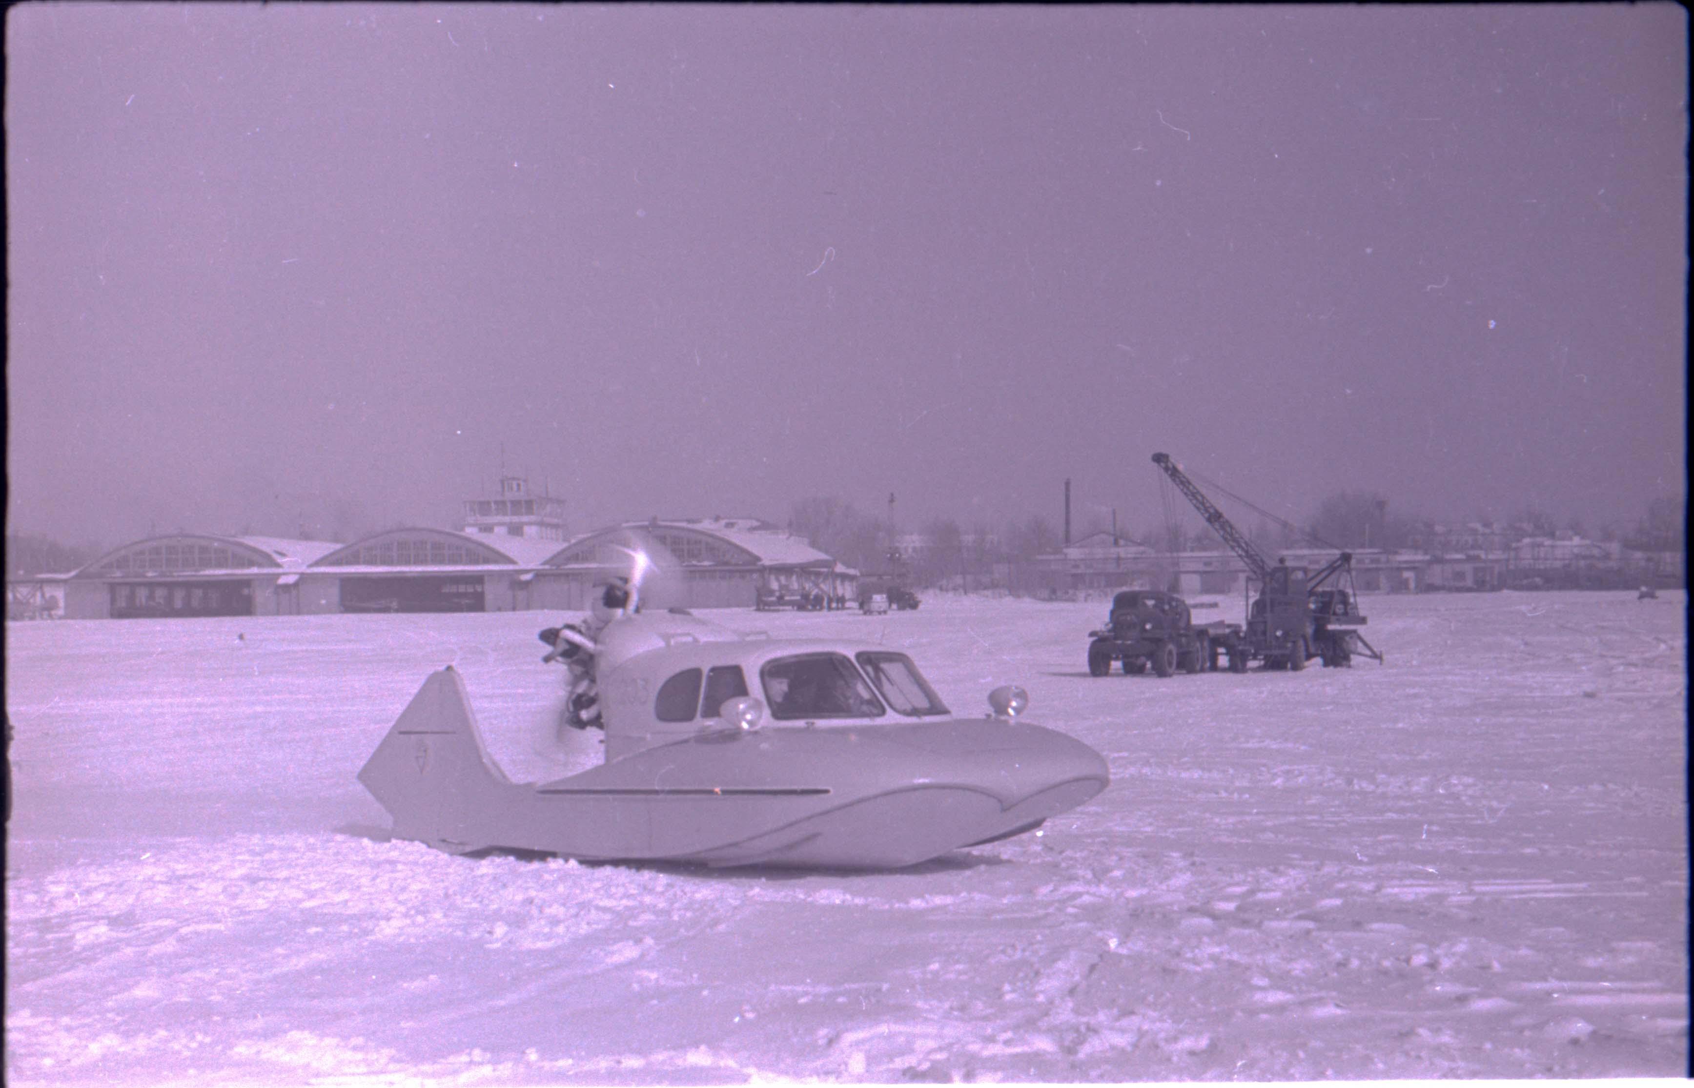
[[[1687,22],[25,5],[8,531],[1682,494]]]

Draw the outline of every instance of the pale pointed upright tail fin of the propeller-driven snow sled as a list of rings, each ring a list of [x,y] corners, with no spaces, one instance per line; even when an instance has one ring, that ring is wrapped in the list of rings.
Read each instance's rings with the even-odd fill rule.
[[[396,839],[451,853],[490,846],[478,827],[512,789],[483,748],[464,680],[451,665],[424,680],[359,770],[359,782],[395,817]]]

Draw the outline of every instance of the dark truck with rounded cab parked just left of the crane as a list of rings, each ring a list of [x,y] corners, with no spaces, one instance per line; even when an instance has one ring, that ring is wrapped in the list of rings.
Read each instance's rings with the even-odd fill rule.
[[[1247,672],[1240,624],[1194,623],[1187,601],[1155,589],[1127,589],[1111,599],[1106,626],[1089,631],[1088,672],[1103,677],[1113,662],[1135,675],[1152,667],[1160,677],[1204,672],[1228,655],[1230,672]]]

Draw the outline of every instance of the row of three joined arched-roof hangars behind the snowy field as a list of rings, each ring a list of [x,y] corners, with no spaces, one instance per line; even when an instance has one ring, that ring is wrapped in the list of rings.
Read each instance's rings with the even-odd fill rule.
[[[349,545],[178,533],[137,540],[76,570],[64,616],[581,611],[598,582],[630,569],[635,550],[659,570],[645,584],[657,607],[747,607],[762,594],[847,601],[857,579],[754,519],[637,521],[562,543],[434,528]]]

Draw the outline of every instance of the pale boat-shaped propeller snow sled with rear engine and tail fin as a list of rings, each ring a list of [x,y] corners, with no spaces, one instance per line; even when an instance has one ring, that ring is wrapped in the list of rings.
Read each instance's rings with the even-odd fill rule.
[[[605,729],[605,763],[512,782],[442,668],[359,772],[395,838],[461,854],[900,868],[1033,831],[1110,782],[1098,751],[1021,719],[1020,687],[959,717],[888,646],[644,613],[635,589],[605,587],[598,626],[542,633],[573,667],[567,724]]]

